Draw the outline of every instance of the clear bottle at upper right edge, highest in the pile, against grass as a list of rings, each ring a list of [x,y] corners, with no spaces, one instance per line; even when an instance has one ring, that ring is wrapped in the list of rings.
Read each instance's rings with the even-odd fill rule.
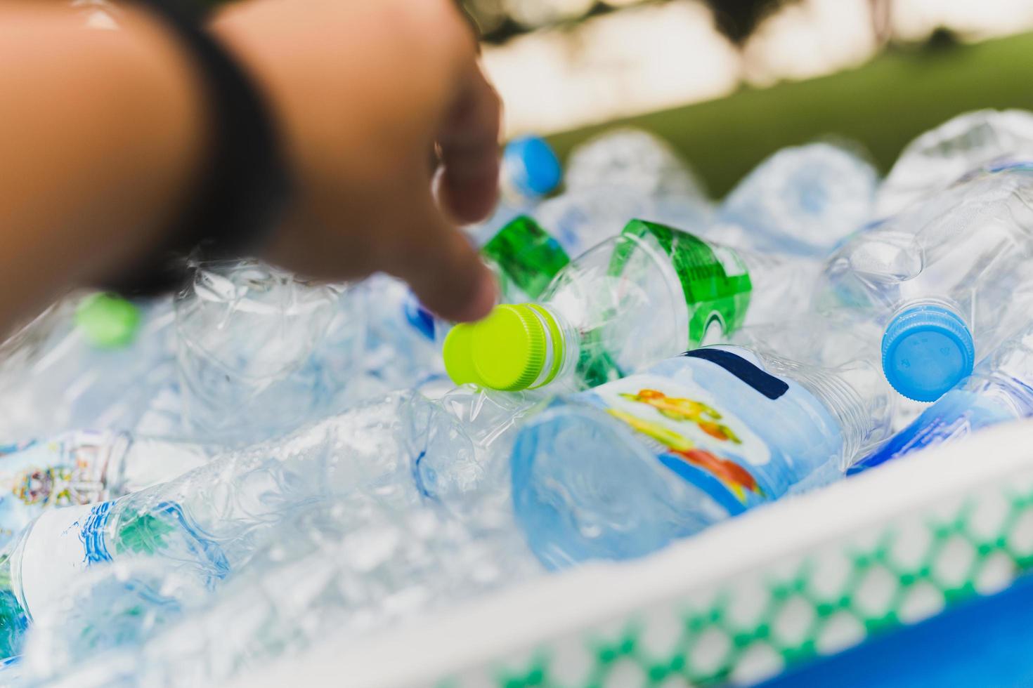
[[[984,109],[959,114],[904,149],[879,188],[878,216],[896,215],[974,169],[1026,160],[1033,160],[1033,113]]]

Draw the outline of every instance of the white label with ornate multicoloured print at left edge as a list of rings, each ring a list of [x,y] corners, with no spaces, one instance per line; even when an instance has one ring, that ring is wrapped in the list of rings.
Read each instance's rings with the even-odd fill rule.
[[[45,509],[108,498],[108,469],[128,445],[125,435],[76,431],[0,446],[0,543]]]

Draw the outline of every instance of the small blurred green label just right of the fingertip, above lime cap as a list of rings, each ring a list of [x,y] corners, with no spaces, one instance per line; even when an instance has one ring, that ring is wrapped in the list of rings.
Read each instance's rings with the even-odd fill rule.
[[[532,300],[538,298],[556,273],[570,262],[563,247],[526,216],[499,230],[480,253],[499,267],[503,294],[510,293],[512,285]]]

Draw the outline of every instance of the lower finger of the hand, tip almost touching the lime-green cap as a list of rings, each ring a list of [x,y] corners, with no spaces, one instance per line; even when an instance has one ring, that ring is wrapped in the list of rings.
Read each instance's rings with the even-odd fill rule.
[[[387,271],[409,283],[420,302],[442,318],[483,318],[495,305],[495,277],[430,198],[427,206],[421,226],[406,232],[405,248],[394,252]]]

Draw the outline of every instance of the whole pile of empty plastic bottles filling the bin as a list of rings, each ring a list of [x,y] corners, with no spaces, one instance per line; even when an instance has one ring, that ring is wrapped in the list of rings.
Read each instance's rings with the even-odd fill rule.
[[[224,681],[1033,415],[1026,160],[985,110],[714,202],[645,132],[523,138],[478,323],[257,262],[68,297],[0,349],[0,682]]]

